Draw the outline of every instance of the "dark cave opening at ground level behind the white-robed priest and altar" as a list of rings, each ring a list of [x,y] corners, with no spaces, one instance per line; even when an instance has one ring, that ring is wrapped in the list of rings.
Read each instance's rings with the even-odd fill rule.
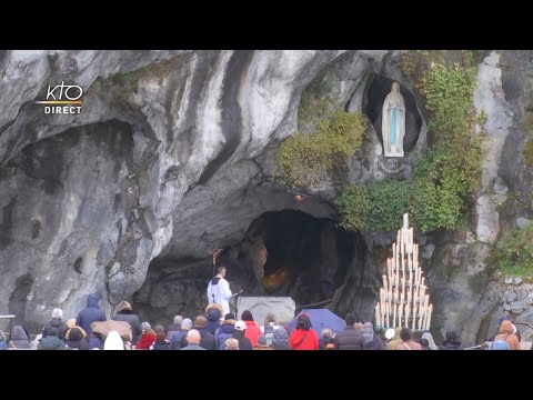
[[[134,307],[161,323],[175,314],[194,318],[208,304],[211,261],[208,254],[205,259],[165,254],[152,260],[143,287],[133,297]],[[296,309],[328,307],[344,314],[371,310],[375,298],[375,270],[362,234],[299,210],[260,214],[241,241],[223,248],[218,266],[227,267],[232,292],[244,289],[242,296],[248,297],[291,297]]]

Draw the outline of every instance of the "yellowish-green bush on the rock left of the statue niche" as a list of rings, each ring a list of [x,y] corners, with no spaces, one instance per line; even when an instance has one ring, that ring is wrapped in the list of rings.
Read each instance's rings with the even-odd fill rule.
[[[366,124],[361,113],[335,110],[316,122],[314,133],[296,132],[278,148],[280,178],[296,188],[328,178],[360,149]]]

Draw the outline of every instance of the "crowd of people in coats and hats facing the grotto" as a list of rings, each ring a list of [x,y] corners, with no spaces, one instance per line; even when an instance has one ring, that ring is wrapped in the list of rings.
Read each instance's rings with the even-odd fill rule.
[[[345,328],[333,332],[329,328],[316,332],[308,314],[296,319],[293,330],[276,323],[272,313],[258,324],[252,312],[245,310],[237,319],[231,312],[223,314],[217,303],[210,303],[204,312],[194,318],[175,316],[167,328],[141,320],[129,302],[122,301],[114,316],[125,321],[131,333],[110,331],[107,336],[94,332],[93,322],[105,321],[99,309],[97,296],[89,296],[87,308],[77,319],[63,321],[61,309],[52,311],[51,320],[42,332],[30,340],[28,330],[16,324],[9,339],[0,332],[0,350],[462,350],[455,332],[446,332],[445,340],[436,346],[430,332],[415,340],[409,328],[388,329],[383,337],[375,332],[371,322],[359,321],[355,314],[345,316]],[[499,328],[490,338],[491,348],[520,350],[520,332],[509,318],[499,321]]]

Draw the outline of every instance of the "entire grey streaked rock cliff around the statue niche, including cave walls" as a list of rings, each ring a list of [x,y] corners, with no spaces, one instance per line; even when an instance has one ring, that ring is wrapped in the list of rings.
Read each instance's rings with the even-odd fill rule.
[[[168,324],[204,309],[208,250],[223,249],[233,290],[291,296],[296,306],[330,300],[341,316],[372,319],[392,236],[342,232],[335,183],[294,192],[273,179],[272,156],[302,128],[302,92],[324,79],[335,106],[372,121],[348,180],[409,179],[426,149],[426,121],[398,54],[1,51],[0,313],[37,332],[53,308],[76,317],[97,292],[109,317],[129,299],[143,319]],[[533,219],[524,150],[533,138],[532,58],[492,52],[480,66],[474,101],[487,113],[489,138],[472,227],[416,237],[436,337],[455,329],[473,343],[501,312],[531,316],[530,282],[502,282],[485,259],[502,229]],[[404,159],[382,154],[378,111],[392,80],[410,110]],[[61,81],[83,89],[81,113],[44,114],[33,103]],[[290,231],[299,213],[304,229]],[[292,256],[280,252],[284,244]]]

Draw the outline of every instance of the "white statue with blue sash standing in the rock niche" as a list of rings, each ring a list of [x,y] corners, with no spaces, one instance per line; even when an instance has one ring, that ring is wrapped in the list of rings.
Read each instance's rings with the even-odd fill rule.
[[[381,121],[383,149],[385,157],[403,157],[403,137],[405,136],[405,103],[400,93],[400,83],[392,83],[391,92],[383,102]]]

